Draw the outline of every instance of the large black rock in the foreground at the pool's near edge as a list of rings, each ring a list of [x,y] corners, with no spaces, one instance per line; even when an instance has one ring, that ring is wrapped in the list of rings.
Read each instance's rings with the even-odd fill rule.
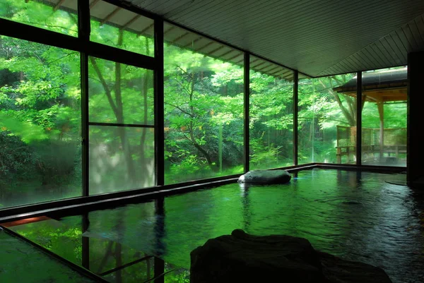
[[[240,229],[206,241],[191,258],[191,283],[391,283],[381,268],[315,251],[307,239]]]

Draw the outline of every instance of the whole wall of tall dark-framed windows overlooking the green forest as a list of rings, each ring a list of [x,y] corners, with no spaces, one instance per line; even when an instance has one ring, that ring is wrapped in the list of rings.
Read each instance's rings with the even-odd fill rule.
[[[358,100],[356,73],[295,82],[119,1],[1,0],[0,21],[0,209],[247,167],[406,166],[406,67],[362,72]]]

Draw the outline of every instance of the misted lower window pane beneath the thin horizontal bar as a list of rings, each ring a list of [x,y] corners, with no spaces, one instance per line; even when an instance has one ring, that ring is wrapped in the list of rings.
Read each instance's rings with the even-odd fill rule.
[[[90,126],[90,194],[155,185],[153,128]]]

